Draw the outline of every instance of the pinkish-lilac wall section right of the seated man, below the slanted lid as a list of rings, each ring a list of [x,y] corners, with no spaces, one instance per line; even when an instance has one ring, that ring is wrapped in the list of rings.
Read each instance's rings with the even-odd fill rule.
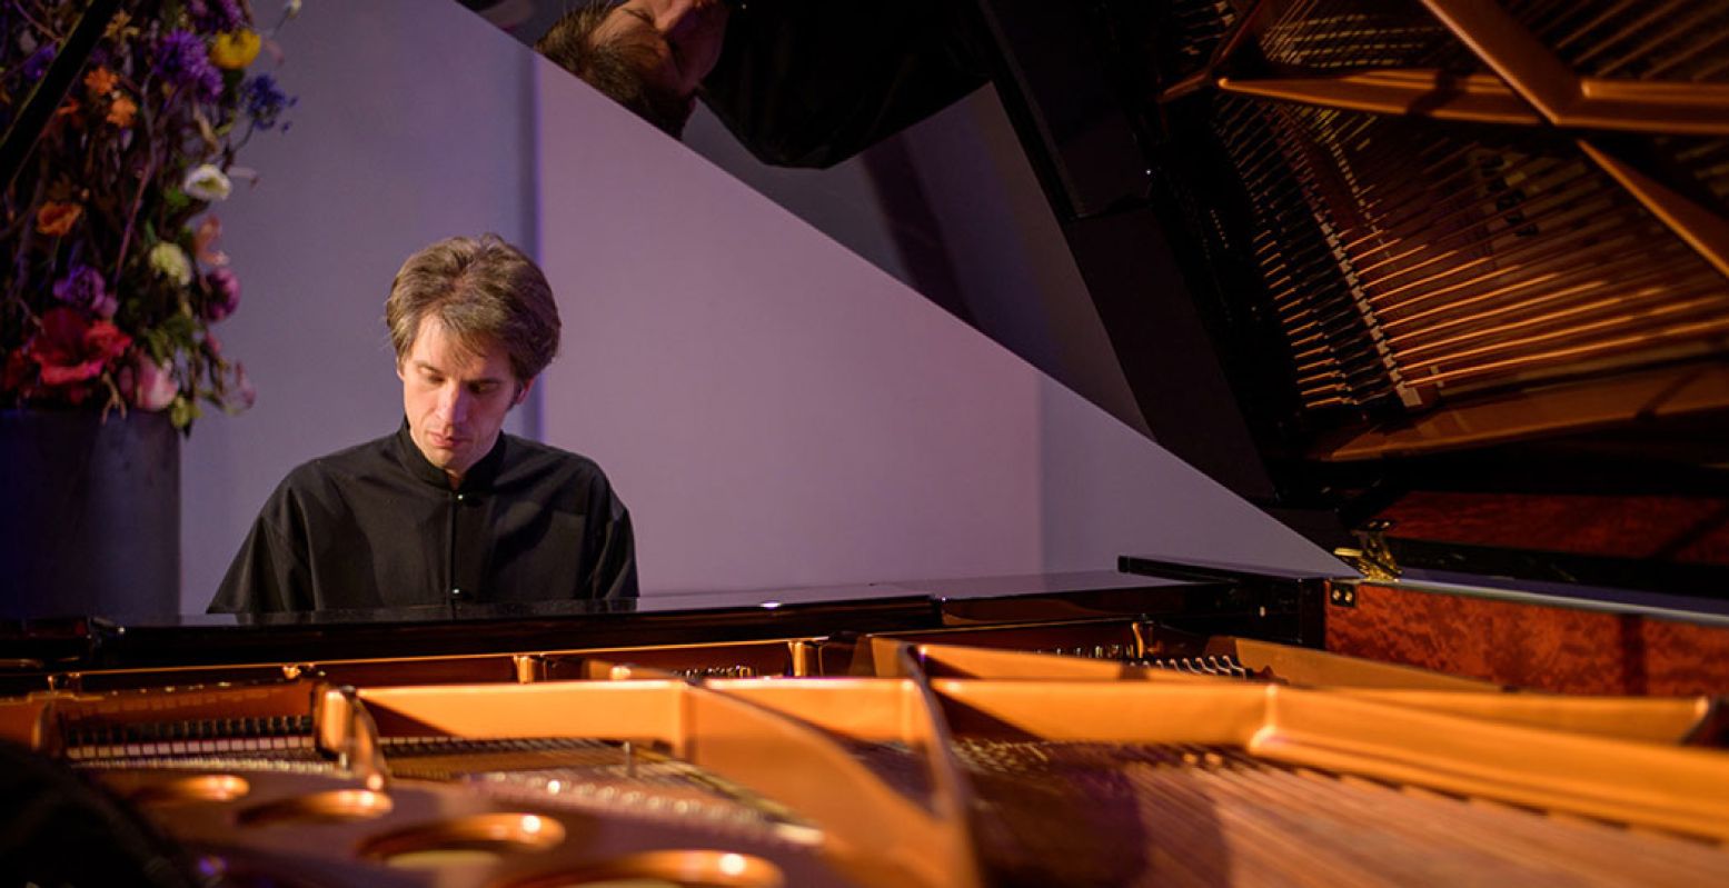
[[[546,441],[636,520],[647,593],[1110,568],[1338,570],[1103,409],[550,64]]]

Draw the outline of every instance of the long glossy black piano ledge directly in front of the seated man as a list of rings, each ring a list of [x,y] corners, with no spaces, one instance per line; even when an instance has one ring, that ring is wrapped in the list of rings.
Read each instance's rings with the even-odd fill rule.
[[[0,625],[7,672],[436,656],[595,646],[826,637],[967,622],[1219,610],[1229,584],[1112,572],[813,589],[721,591],[636,601],[451,605],[367,612],[187,615]],[[1231,610],[1240,610],[1231,605]]]

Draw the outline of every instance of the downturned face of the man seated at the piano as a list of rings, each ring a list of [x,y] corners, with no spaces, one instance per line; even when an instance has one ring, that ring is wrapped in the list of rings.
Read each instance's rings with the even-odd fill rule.
[[[415,344],[396,365],[396,375],[403,380],[403,411],[415,446],[451,484],[493,449],[505,415],[534,384],[517,382],[503,346],[494,342],[470,352],[431,314],[420,318]]]

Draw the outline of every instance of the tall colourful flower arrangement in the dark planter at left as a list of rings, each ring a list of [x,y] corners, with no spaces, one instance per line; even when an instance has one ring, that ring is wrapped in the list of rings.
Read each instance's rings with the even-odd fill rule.
[[[0,0],[0,126],[9,126],[86,3]],[[3,195],[0,408],[169,411],[190,430],[201,403],[252,404],[246,368],[211,325],[240,282],[216,249],[213,204],[247,140],[287,130],[294,104],[249,73],[299,10],[270,31],[247,0],[133,0],[109,22],[80,79]]]

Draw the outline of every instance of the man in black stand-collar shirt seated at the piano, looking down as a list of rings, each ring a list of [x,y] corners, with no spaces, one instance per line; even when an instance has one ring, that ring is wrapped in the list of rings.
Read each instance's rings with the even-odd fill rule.
[[[600,466],[500,430],[558,351],[539,268],[494,235],[441,240],[384,313],[406,418],[290,472],[209,610],[635,598],[629,513]]]

